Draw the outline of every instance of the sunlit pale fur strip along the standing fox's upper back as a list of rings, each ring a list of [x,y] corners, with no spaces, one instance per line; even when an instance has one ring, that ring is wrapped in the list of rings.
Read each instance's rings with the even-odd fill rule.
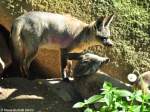
[[[68,33],[72,34],[87,25],[71,15],[49,12],[29,12],[19,18],[25,19],[30,25],[49,28],[50,30],[56,30],[58,32],[68,31]]]

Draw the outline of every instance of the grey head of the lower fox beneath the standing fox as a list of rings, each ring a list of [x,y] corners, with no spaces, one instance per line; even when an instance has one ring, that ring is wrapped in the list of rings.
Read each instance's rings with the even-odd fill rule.
[[[98,69],[109,62],[109,58],[100,57],[95,54],[85,53],[80,56],[80,60],[74,68],[74,77],[83,77],[95,74]]]

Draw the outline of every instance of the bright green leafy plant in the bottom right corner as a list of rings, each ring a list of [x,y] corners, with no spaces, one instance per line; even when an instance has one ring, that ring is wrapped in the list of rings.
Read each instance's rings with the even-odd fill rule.
[[[111,83],[103,84],[103,92],[76,103],[73,108],[83,108],[84,112],[149,112],[150,95],[141,90],[128,90],[112,87]]]

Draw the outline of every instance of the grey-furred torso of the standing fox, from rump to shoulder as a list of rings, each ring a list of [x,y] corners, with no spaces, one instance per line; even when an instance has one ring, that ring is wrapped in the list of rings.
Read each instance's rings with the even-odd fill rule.
[[[16,19],[24,21],[22,38],[40,38],[42,43],[50,46],[65,48],[87,25],[86,23],[70,16],[49,12],[29,12]],[[32,41],[32,40],[30,40]]]

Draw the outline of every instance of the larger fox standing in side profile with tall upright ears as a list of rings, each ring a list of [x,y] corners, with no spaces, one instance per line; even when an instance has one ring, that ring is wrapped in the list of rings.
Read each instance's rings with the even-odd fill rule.
[[[10,36],[13,57],[22,75],[27,77],[39,47],[61,49],[68,53],[76,48],[85,49],[100,43],[112,46],[113,43],[108,39],[112,19],[113,15],[87,24],[69,15],[28,12],[13,22]],[[65,65],[62,65],[64,68]]]

